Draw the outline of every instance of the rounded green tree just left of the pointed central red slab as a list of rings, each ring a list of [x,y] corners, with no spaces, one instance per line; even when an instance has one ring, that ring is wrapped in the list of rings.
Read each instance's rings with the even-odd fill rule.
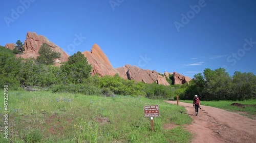
[[[78,51],[68,58],[68,62],[60,66],[61,76],[64,84],[82,83],[89,78],[92,66],[89,65],[87,58]]]

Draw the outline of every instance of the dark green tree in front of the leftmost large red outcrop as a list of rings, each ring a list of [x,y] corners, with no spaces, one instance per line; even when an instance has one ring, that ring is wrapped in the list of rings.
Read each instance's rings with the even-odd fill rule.
[[[36,59],[38,64],[52,65],[54,59],[60,58],[60,53],[53,51],[46,43],[41,45],[38,53],[39,56]]]

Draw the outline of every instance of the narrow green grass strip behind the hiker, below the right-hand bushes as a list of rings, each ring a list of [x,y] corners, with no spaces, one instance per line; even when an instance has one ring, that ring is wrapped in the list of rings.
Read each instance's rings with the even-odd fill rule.
[[[190,100],[180,100],[181,102],[191,103]],[[212,106],[221,109],[225,109],[232,112],[239,112],[241,115],[247,116],[249,118],[256,117],[256,99],[244,100],[244,101],[200,101],[201,105]],[[245,106],[233,106],[232,103],[240,103]],[[241,113],[243,112],[243,113]]]

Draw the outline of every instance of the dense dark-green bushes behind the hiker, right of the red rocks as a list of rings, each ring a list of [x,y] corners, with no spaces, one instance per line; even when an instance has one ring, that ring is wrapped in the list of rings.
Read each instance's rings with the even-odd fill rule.
[[[245,100],[256,98],[256,76],[252,73],[235,72],[231,77],[225,69],[205,69],[194,76],[182,99],[195,94],[202,100]]]

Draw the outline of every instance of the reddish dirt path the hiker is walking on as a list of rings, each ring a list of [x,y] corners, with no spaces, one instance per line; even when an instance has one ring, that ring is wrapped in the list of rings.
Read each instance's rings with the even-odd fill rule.
[[[165,102],[177,104],[177,101]],[[196,116],[192,103],[179,102],[179,105],[184,106],[187,114],[193,119],[192,124],[187,126],[187,130],[194,136],[191,142],[256,142],[256,120],[203,105]]]

